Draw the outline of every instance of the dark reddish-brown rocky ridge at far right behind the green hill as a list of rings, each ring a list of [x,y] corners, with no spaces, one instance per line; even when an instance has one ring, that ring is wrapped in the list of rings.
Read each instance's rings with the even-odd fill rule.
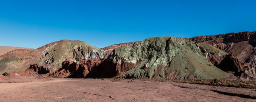
[[[220,34],[214,36],[197,36],[191,38],[196,43],[207,43],[228,52],[219,67],[230,73],[242,73],[242,78],[256,79],[256,31]],[[223,58],[222,58],[223,59]],[[231,64],[230,66],[224,63]],[[238,74],[239,75],[239,74]]]

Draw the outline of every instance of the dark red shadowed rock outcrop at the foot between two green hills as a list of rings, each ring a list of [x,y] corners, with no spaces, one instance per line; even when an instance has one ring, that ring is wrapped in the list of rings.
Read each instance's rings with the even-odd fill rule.
[[[113,78],[116,76],[116,68],[116,64],[106,59],[80,60],[79,62],[65,60],[62,63],[62,68],[49,76],[58,78]]]

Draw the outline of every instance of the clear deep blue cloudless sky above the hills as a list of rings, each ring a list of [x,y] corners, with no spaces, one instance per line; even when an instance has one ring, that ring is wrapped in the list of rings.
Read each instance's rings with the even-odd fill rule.
[[[0,46],[99,48],[156,36],[256,30],[256,0],[0,0]]]

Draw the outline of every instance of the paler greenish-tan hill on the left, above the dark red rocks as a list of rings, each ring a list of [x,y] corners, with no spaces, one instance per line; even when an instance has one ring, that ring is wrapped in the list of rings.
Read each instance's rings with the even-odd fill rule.
[[[34,50],[13,50],[0,56],[0,72],[21,71],[38,64],[55,71],[66,59],[77,62],[82,59],[98,60],[103,51],[81,41],[61,40]]]

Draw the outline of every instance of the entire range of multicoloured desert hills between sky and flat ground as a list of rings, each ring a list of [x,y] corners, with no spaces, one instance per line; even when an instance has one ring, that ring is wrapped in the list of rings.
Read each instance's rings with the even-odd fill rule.
[[[102,49],[61,40],[0,56],[0,71],[60,78],[213,79],[234,74],[253,80],[255,44],[256,32],[156,37]]]

